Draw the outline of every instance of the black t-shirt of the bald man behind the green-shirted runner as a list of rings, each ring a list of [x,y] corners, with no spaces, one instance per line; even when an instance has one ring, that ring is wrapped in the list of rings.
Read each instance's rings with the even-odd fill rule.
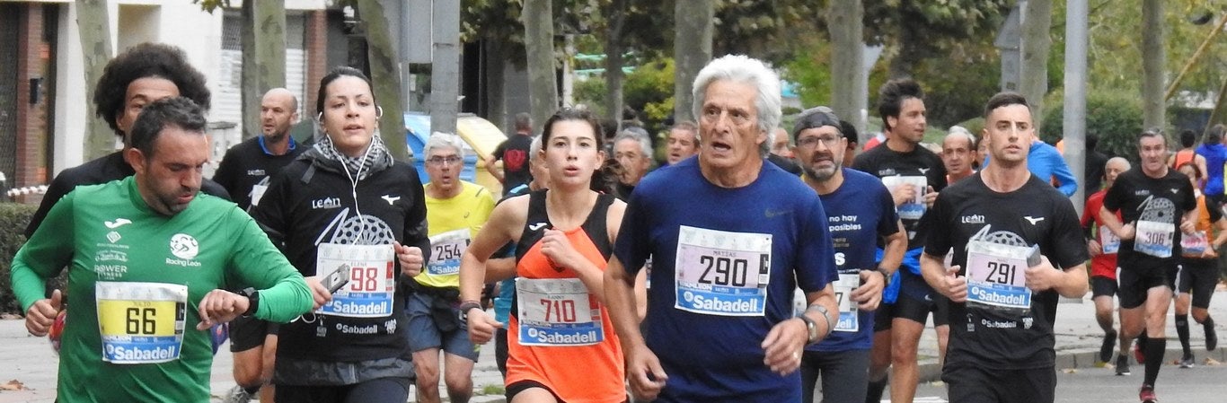
[[[269,186],[269,178],[298,158],[306,146],[293,145],[282,156],[272,156],[264,151],[260,138],[252,137],[226,151],[226,157],[213,173],[213,181],[234,198],[242,209],[252,207],[252,195],[256,185]],[[292,140],[291,140],[292,141]]]

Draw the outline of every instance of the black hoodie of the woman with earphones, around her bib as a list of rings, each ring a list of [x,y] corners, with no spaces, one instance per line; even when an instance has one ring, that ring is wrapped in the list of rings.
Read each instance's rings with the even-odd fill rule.
[[[395,240],[428,254],[425,190],[417,171],[390,158],[368,169],[371,174],[355,186],[341,162],[308,149],[272,176],[252,217],[303,276],[315,274],[317,251],[323,243],[390,247]],[[395,260],[394,266],[398,284],[409,279],[399,274]],[[404,287],[398,285],[390,316],[307,314],[281,325],[277,356],[317,361],[410,359],[404,293]]]

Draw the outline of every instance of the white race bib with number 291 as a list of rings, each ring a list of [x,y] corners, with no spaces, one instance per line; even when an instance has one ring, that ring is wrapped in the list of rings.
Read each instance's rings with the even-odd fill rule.
[[[1031,309],[1027,288],[1027,246],[967,243],[967,304],[1000,310]]]

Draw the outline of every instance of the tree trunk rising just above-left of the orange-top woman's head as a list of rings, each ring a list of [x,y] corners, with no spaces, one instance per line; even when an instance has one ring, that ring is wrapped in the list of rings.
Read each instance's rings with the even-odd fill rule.
[[[550,0],[524,0],[524,51],[528,55],[529,110],[534,132],[558,110],[558,85],[555,80],[553,11]]]

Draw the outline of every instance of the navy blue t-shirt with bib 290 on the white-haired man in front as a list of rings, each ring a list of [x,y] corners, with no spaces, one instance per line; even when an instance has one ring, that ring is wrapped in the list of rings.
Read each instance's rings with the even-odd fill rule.
[[[795,287],[837,278],[822,203],[774,164],[725,189],[697,160],[639,183],[614,247],[632,274],[653,256],[644,338],[669,376],[659,402],[800,402],[799,372],[772,372],[761,344],[793,317]]]

